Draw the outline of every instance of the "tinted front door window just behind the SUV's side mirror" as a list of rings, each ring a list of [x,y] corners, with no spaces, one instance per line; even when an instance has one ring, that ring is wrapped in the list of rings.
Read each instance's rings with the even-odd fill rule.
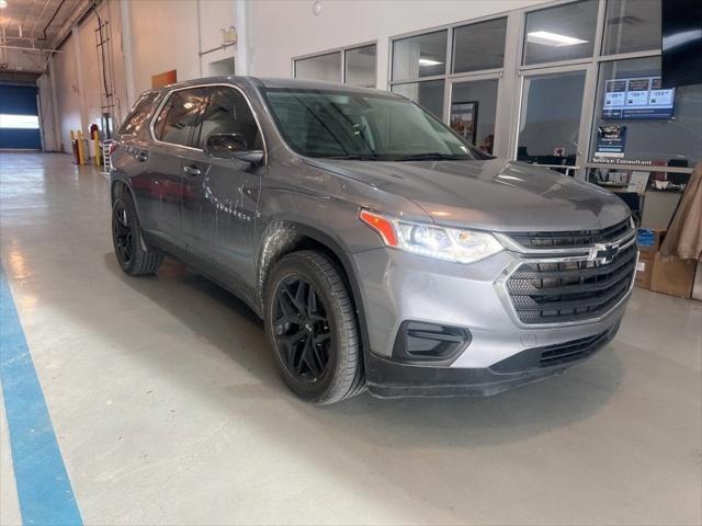
[[[249,149],[262,149],[261,135],[249,104],[234,88],[215,87],[202,116],[199,147],[204,149],[207,137],[218,134],[241,134]]]

